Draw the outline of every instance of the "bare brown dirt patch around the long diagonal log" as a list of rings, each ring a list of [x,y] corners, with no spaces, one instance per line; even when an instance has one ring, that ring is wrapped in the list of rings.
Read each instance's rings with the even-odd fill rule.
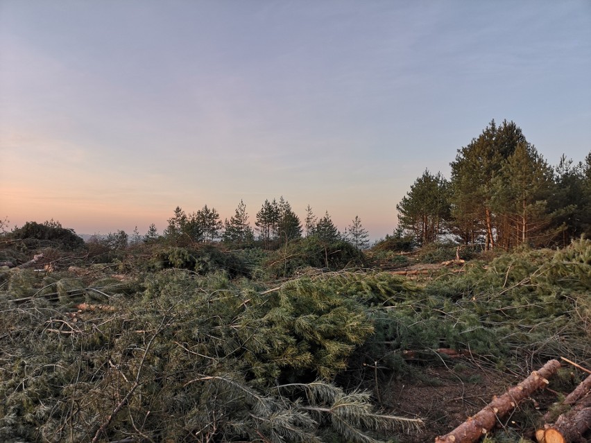
[[[379,386],[379,399],[384,409],[395,415],[418,417],[425,422],[420,433],[398,433],[400,443],[434,442],[488,404],[493,397],[504,394],[525,377],[518,374],[488,370],[462,358],[453,365],[416,366],[414,376],[392,380]],[[547,408],[558,400],[558,390],[567,394],[573,383],[551,380],[549,389],[538,391],[523,401],[509,417],[499,419],[494,432],[533,438]],[[554,389],[552,389],[554,387]],[[374,392],[377,396],[377,392]],[[515,442],[518,441],[515,440]]]

